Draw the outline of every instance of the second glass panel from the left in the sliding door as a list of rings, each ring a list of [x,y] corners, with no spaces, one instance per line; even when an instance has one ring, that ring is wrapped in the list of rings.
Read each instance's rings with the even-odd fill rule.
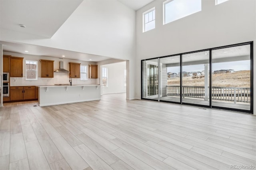
[[[160,58],[161,101],[180,103],[180,55]]]

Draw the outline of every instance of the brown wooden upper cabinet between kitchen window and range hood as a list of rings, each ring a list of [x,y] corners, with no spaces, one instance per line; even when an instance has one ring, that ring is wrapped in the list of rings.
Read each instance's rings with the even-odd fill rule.
[[[40,59],[41,77],[53,78],[53,62],[52,60]]]

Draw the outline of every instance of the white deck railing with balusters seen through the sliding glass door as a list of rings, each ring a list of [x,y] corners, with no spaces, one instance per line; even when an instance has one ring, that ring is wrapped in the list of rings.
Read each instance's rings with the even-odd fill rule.
[[[167,96],[180,96],[180,86],[167,85]],[[212,99],[250,103],[250,87],[212,87]],[[182,97],[205,97],[204,86],[183,86]]]

